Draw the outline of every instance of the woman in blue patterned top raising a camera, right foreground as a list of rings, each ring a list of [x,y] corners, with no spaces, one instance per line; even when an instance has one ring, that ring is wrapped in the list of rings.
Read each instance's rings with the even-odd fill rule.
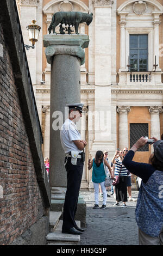
[[[148,139],[141,137],[123,160],[127,169],[142,179],[136,205],[139,245],[163,245],[163,141],[154,138],[154,153],[149,163],[133,161],[137,149]]]

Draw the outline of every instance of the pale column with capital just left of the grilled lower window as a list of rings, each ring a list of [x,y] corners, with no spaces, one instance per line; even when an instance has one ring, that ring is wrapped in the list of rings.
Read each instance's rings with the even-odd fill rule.
[[[129,106],[118,106],[119,113],[119,148],[122,150],[128,145],[128,117],[127,114],[131,111]]]

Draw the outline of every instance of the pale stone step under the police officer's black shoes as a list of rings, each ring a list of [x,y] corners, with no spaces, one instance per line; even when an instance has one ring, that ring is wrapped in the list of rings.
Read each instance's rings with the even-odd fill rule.
[[[49,233],[46,237],[47,245],[78,245],[80,242],[80,235],[71,235],[61,233],[62,220],[59,220],[56,229]],[[76,221],[78,227],[80,227],[80,221]]]

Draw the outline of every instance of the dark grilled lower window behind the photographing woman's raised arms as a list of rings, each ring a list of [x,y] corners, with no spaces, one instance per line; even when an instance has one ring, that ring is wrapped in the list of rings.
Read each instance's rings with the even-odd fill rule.
[[[130,123],[130,148],[142,136],[148,137],[148,124]],[[149,145],[146,144],[144,147],[138,149],[137,151],[149,151]]]

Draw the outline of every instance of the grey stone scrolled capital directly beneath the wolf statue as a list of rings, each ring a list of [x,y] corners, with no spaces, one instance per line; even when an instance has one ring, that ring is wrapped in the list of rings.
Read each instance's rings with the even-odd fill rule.
[[[83,48],[89,45],[88,35],[44,35],[43,46],[46,47],[45,54],[47,62],[51,64],[52,57],[58,54],[69,54],[81,59],[81,65],[85,63],[85,52]]]

